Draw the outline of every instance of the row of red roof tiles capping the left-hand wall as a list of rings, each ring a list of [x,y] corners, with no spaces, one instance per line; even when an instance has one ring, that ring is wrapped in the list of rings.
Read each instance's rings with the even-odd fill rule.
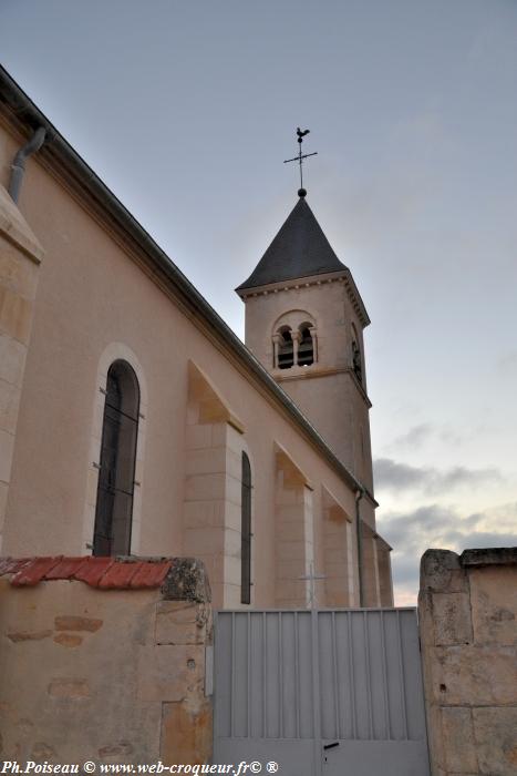
[[[15,588],[76,580],[100,590],[138,590],[159,588],[173,563],[172,558],[0,558],[0,576],[10,574]]]

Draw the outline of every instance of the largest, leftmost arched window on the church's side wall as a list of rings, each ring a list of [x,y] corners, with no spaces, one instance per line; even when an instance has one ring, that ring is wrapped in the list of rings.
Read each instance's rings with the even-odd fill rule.
[[[138,433],[139,388],[126,361],[107,372],[102,427],[94,555],[128,555]]]

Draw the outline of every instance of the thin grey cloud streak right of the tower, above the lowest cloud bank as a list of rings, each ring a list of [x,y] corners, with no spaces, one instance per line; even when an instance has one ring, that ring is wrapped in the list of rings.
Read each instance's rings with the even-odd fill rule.
[[[373,472],[378,492],[383,489],[422,490],[427,494],[437,494],[454,488],[477,488],[503,480],[500,472],[494,468],[467,469],[457,466],[441,471],[433,467],[400,463],[392,458],[376,458],[373,462]]]

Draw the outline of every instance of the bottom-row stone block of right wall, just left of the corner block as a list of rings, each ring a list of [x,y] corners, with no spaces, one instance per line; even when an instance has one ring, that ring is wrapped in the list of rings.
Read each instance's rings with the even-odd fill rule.
[[[472,709],[442,708],[442,731],[447,770],[457,774],[477,773]]]

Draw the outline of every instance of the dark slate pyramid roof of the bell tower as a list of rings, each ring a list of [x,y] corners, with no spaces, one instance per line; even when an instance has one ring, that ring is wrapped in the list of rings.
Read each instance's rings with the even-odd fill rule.
[[[251,275],[236,290],[332,272],[347,272],[347,267],[332,251],[304,196],[300,196]]]

